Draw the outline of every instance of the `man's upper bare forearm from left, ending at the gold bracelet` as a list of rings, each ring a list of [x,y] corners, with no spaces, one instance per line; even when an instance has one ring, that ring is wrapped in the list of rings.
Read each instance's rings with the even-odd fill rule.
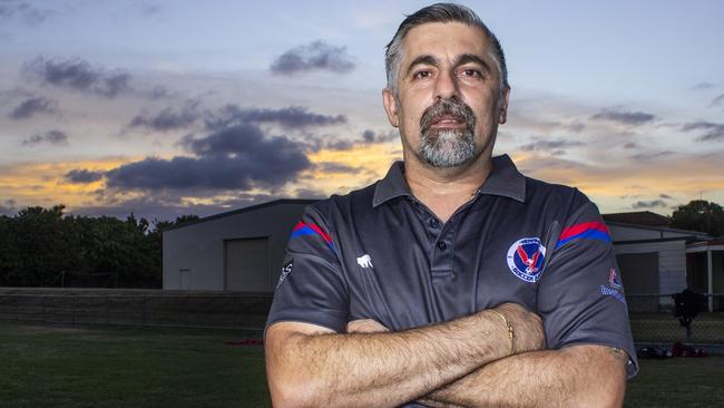
[[[267,341],[275,406],[394,407],[505,356],[500,324],[473,314],[402,332],[294,333]],[[487,340],[481,340],[487,339]]]

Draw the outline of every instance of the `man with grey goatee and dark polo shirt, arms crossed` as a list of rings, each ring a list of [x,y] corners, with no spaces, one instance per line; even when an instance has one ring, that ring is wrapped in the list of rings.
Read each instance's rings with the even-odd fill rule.
[[[265,333],[274,406],[620,406],[636,362],[610,239],[581,193],[491,157],[496,37],[434,4],[387,70],[404,163],[294,229]]]

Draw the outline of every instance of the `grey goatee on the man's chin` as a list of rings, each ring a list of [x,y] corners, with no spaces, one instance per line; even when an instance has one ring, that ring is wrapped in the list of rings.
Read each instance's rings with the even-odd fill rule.
[[[420,157],[433,167],[456,167],[476,155],[470,129],[429,130],[420,135]]]

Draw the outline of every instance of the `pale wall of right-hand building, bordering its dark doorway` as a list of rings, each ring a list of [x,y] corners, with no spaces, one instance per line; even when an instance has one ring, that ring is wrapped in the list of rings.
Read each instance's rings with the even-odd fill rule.
[[[686,288],[686,242],[665,241],[614,245],[616,254],[658,253],[658,293],[681,292]]]

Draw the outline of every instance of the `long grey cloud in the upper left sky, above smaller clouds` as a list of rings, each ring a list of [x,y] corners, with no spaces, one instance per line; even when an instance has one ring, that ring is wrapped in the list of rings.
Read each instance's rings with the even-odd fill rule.
[[[88,91],[112,98],[121,93],[129,93],[130,75],[121,71],[108,72],[92,67],[80,58],[46,59],[40,56],[22,67],[22,72],[40,80],[42,84],[59,88]]]

